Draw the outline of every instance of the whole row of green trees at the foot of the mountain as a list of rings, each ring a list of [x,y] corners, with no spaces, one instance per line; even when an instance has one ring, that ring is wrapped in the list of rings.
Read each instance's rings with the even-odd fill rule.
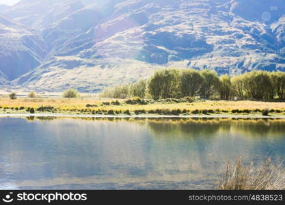
[[[285,72],[254,70],[230,77],[218,76],[215,70],[164,69],[154,72],[148,80],[107,87],[100,96],[154,100],[187,96],[220,100],[285,99]]]

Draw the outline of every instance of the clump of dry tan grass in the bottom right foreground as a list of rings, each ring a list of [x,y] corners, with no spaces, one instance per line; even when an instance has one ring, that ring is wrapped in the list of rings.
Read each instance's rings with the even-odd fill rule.
[[[219,181],[220,190],[281,190],[285,189],[285,170],[271,163],[254,166],[244,165],[241,159],[236,159],[235,165],[230,162],[226,174]]]

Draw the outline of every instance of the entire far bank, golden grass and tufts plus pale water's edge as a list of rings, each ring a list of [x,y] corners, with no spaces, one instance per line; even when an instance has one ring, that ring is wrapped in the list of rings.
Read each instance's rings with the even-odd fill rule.
[[[265,111],[265,113],[264,113]],[[264,115],[265,114],[265,115]],[[0,116],[80,118],[285,118],[285,102],[0,98]]]

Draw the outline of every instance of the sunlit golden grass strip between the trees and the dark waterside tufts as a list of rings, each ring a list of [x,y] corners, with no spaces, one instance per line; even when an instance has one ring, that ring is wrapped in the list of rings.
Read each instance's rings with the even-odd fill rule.
[[[18,98],[11,100],[10,98],[0,98],[0,107],[3,109],[15,109],[19,107],[31,107],[37,109],[38,107],[54,107],[57,112],[92,112],[92,111],[154,111],[156,109],[170,111],[175,109],[186,110],[187,113],[195,113],[195,110],[199,110],[202,113],[203,110],[211,110],[213,113],[220,112],[232,112],[233,110],[243,110],[244,113],[249,111],[262,111],[262,109],[269,108],[278,113],[285,112],[285,102],[260,102],[260,101],[226,101],[226,100],[200,100],[198,102],[182,102],[163,104],[155,102],[148,105],[128,105],[124,103],[124,100],[119,100],[121,105],[102,105],[102,102],[111,102],[111,99],[85,99],[85,98]],[[87,104],[95,105],[94,107],[86,107]],[[194,111],[194,112],[193,112]],[[234,113],[234,111],[232,112]],[[232,114],[231,113],[231,114]],[[243,112],[241,112],[243,113]]]

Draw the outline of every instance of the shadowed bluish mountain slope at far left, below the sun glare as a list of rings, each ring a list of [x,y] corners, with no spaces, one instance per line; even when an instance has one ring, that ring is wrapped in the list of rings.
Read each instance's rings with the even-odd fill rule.
[[[46,53],[43,40],[26,27],[0,16],[1,77],[12,81],[40,66]]]

